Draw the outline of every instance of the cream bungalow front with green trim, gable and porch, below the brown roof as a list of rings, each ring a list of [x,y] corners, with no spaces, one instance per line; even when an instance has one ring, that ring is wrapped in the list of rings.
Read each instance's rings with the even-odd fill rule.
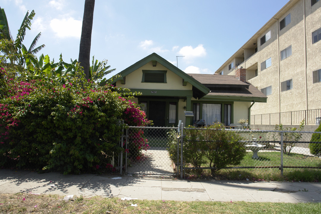
[[[119,75],[121,77],[117,77],[113,84],[119,88],[128,88],[131,92],[141,92],[141,95],[131,100],[141,104],[147,118],[153,120],[155,126],[177,126],[180,120],[184,125],[192,125],[213,109],[216,110],[218,122],[237,124],[240,118],[248,118],[248,108],[253,99],[266,101],[266,97],[222,98],[208,94],[211,91],[209,88],[155,53],[131,65]],[[209,107],[205,104],[211,105]],[[185,111],[193,112],[194,116],[187,116]],[[207,118],[211,119],[206,121],[207,124],[216,119],[208,113]]]

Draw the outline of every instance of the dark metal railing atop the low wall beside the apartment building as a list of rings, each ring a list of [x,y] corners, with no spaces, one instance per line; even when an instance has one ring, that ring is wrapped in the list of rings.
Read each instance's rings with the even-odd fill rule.
[[[304,120],[304,125],[320,124],[321,109],[288,111],[280,113],[269,113],[261,115],[251,115],[251,124],[291,124],[299,125]]]

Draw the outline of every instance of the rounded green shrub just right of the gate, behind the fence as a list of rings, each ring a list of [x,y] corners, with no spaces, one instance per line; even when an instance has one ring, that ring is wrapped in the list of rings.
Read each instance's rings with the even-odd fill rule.
[[[228,165],[237,165],[246,154],[246,149],[239,143],[241,136],[238,133],[226,130],[224,124],[215,123],[204,129],[184,129],[183,156],[185,164],[194,167],[213,167],[211,174]],[[177,161],[176,131],[172,130],[169,135],[169,157]],[[202,169],[195,170],[200,174]]]

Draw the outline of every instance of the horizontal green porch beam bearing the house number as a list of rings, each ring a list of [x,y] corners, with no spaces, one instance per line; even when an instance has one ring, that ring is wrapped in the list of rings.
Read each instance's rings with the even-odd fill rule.
[[[186,97],[193,96],[191,90],[161,90],[161,89],[130,89],[131,92],[141,92],[142,96]]]

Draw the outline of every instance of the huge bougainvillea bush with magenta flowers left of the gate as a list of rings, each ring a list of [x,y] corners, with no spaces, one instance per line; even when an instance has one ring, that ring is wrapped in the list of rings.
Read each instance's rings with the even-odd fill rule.
[[[16,160],[16,167],[65,174],[113,168],[108,157],[122,150],[120,121],[145,120],[126,113],[138,107],[115,87],[99,87],[80,73],[62,85],[8,76],[1,69],[0,166]]]

